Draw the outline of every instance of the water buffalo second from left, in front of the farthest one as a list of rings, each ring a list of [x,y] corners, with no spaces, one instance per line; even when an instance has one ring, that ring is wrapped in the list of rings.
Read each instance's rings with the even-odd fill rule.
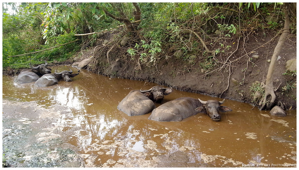
[[[70,69],[71,70],[71,69]],[[55,70],[55,73],[51,73],[51,74],[45,74],[43,75],[41,78],[39,78],[34,85],[37,87],[47,87],[47,86],[52,86],[55,84],[58,84],[59,80],[65,80],[65,81],[72,81],[72,77],[75,77],[76,75],[78,75],[79,73],[76,74],[71,74],[73,73],[73,71],[62,71],[62,72],[57,72],[57,70]]]

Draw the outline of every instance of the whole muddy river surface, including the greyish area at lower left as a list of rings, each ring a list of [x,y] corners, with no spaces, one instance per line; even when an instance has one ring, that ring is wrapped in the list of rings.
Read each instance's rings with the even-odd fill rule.
[[[180,122],[156,122],[147,119],[150,113],[127,116],[117,105],[132,89],[157,84],[86,70],[72,79],[35,88],[2,77],[7,166],[296,167],[296,110],[275,117],[226,100],[223,106],[233,111],[222,113],[218,122],[202,113]],[[174,89],[162,103],[179,97],[221,100]]]

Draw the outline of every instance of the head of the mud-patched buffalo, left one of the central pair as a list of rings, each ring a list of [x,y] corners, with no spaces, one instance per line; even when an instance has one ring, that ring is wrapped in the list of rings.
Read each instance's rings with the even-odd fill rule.
[[[149,99],[155,102],[161,102],[164,98],[164,95],[169,95],[173,92],[173,89],[164,89],[161,86],[154,86],[148,90],[141,90],[140,92],[144,93]]]

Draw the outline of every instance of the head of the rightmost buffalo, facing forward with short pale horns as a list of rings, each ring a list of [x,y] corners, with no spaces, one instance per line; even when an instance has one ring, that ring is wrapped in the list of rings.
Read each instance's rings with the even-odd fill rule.
[[[215,121],[221,119],[219,112],[232,111],[232,109],[227,106],[220,106],[221,104],[224,103],[225,99],[223,99],[223,101],[216,101],[216,100],[202,101],[200,99],[198,100],[200,101],[200,103],[203,104],[203,106],[197,107],[195,111],[207,113],[209,117]]]

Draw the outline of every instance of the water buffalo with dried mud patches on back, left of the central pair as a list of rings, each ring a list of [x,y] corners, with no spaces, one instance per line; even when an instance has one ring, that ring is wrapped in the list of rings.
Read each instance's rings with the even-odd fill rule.
[[[123,98],[117,109],[129,116],[144,115],[155,109],[155,102],[161,102],[164,95],[169,95],[173,89],[163,89],[161,86],[154,86],[149,90],[132,90]]]

